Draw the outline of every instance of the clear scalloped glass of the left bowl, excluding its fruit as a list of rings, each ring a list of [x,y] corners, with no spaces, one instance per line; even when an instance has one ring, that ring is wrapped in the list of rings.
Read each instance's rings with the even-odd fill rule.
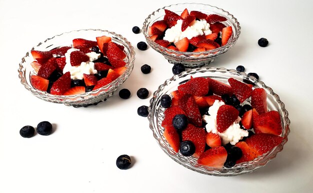
[[[48,51],[60,46],[70,46],[72,44],[72,40],[75,38],[95,40],[95,37],[102,35],[109,36],[113,42],[124,46],[124,52],[126,54],[124,59],[126,62],[126,70],[117,79],[99,89],[83,94],[68,96],[52,95],[44,91],[39,91],[30,84],[30,75],[35,74],[34,69],[30,65],[30,63],[34,60],[30,53],[32,50]],[[21,84],[39,99],[52,103],[62,103],[67,106],[87,107],[89,105],[96,105],[101,101],[105,101],[108,97],[113,95],[113,91],[115,91],[117,87],[129,77],[134,65],[134,56],[135,52],[130,42],[119,34],[101,29],[74,30],[47,38],[43,42],[40,42],[36,46],[32,47],[19,63],[18,77],[20,78]]]

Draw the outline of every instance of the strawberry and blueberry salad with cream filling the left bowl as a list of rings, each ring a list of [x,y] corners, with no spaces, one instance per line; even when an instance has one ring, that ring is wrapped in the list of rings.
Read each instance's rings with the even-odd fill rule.
[[[52,95],[75,95],[101,88],[126,70],[124,46],[111,37],[76,38],[72,45],[32,50],[31,85]]]

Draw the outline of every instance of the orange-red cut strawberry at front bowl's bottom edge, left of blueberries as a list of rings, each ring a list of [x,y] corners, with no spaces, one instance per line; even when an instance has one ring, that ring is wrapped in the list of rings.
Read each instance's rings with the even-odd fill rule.
[[[223,146],[206,150],[197,160],[203,166],[222,168],[227,158],[227,152]]]

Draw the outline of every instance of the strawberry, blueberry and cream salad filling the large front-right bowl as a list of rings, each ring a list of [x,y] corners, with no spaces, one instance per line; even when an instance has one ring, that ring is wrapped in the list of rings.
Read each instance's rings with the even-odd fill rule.
[[[176,152],[197,163],[231,168],[270,152],[283,138],[279,112],[268,111],[266,92],[234,78],[228,84],[209,77],[190,78],[170,95],[163,137]]]

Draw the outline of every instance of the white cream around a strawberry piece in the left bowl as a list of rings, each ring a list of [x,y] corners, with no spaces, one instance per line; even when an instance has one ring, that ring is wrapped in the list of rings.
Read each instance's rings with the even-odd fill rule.
[[[97,70],[94,68],[94,63],[92,61],[96,60],[100,57],[100,54],[95,52],[89,52],[86,53],[86,55],[89,57],[89,60],[87,62],[81,62],[80,65],[77,66],[71,66],[70,65],[70,53],[73,51],[79,51],[79,49],[76,48],[70,48],[65,53],[65,66],[63,68],[63,74],[65,72],[70,73],[70,78],[73,80],[76,79],[83,79],[83,74],[95,74],[97,73]]]

